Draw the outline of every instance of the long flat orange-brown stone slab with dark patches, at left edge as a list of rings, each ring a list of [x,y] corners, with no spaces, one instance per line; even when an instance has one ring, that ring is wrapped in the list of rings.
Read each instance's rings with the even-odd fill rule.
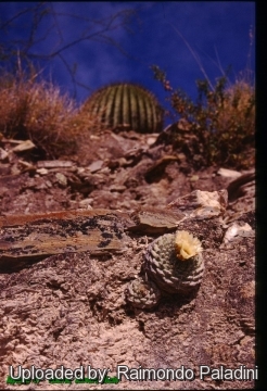
[[[124,234],[127,220],[126,214],[106,210],[0,217],[0,269],[64,252],[122,252],[130,240]]]

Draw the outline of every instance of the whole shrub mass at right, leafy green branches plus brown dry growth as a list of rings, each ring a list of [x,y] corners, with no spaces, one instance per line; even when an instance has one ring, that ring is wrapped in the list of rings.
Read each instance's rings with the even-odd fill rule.
[[[214,87],[198,80],[199,98],[193,102],[182,90],[174,90],[158,66],[152,68],[169,91],[175,114],[188,124],[187,135],[176,129],[171,142],[193,166],[245,169],[255,164],[255,88],[245,77],[229,84],[223,76]]]

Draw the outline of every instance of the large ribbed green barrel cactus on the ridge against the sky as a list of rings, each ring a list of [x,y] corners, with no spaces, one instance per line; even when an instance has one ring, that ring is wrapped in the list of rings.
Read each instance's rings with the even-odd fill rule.
[[[85,109],[113,130],[157,133],[163,127],[163,109],[145,88],[117,83],[97,90]]]

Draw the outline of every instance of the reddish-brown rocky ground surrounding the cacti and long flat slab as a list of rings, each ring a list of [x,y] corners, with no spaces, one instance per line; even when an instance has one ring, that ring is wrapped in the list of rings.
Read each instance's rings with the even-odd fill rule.
[[[91,135],[79,155],[41,161],[33,146],[0,139],[0,217],[53,211],[106,209],[131,213],[165,209],[194,190],[228,189],[223,219],[183,222],[205,242],[205,274],[198,294],[165,294],[153,310],[138,310],[125,289],[140,273],[142,251],[155,235],[129,235],[123,254],[63,253],[16,272],[0,274],[0,383],[9,366],[75,369],[192,369],[185,381],[94,384],[118,389],[250,389],[252,380],[200,379],[200,365],[254,368],[254,238],[227,244],[232,222],[255,229],[255,172],[195,169],[158,135]],[[242,174],[242,175],[241,175]],[[228,226],[227,226],[228,224]],[[2,231],[1,231],[2,232]],[[234,384],[234,386],[233,386]],[[21,386],[66,389],[68,384]],[[88,384],[72,384],[87,389]]]

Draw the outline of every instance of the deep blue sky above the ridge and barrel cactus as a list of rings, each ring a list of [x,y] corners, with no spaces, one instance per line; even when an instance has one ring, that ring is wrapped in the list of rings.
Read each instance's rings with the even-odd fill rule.
[[[37,2],[1,2],[0,23],[9,21],[22,10],[37,5]],[[154,80],[150,70],[152,64],[166,71],[174,88],[181,88],[191,98],[196,97],[195,80],[203,79],[200,65],[185,43],[179,33],[191,46],[203,68],[214,84],[221,71],[232,66],[231,79],[234,80],[247,66],[255,68],[254,45],[251,46],[250,31],[255,29],[255,3],[242,1],[157,1],[157,2],[50,2],[50,14],[40,22],[36,38],[47,34],[46,39],[30,48],[29,53],[39,55],[38,61],[44,70],[43,75],[51,77],[62,91],[74,93],[72,78],[65,64],[71,68],[77,65],[76,99],[82,103],[96,89],[114,81],[141,84],[154,92],[162,105],[166,106],[167,92]],[[111,30],[99,31],[111,22],[112,15],[135,10],[125,28],[122,18],[115,17]],[[13,49],[20,49],[30,34],[33,18],[30,13],[15,18],[12,26],[0,29],[0,43],[14,41]],[[92,38],[81,40],[61,52],[63,61],[54,56],[44,61],[43,54],[54,52],[81,36]],[[113,39],[118,48],[110,45]],[[37,61],[37,60],[36,60]]]

